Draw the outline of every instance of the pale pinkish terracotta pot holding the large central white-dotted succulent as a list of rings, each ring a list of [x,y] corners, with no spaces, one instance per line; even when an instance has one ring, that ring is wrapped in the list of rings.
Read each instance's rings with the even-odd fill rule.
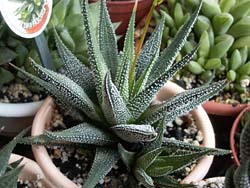
[[[183,89],[172,82],[168,82],[159,92],[156,100],[164,100],[169,96],[182,92]],[[32,126],[31,134],[33,136],[40,135],[44,132],[46,125],[50,122],[54,109],[54,102],[51,97],[48,97],[38,111]],[[210,120],[202,107],[193,110],[192,115],[199,129],[203,132],[203,146],[215,147],[215,137]],[[75,188],[77,187],[71,180],[64,176],[58,168],[53,164],[49,154],[44,146],[32,146],[34,157],[40,165],[45,176],[52,182],[55,187],[60,188]],[[196,165],[194,170],[183,180],[183,183],[201,180],[208,172],[213,156],[202,158]]]

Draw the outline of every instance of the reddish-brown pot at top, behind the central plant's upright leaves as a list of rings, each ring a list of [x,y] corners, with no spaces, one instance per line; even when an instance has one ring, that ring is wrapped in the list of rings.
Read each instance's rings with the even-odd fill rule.
[[[98,0],[89,0],[90,3],[97,2]],[[136,12],[136,23],[139,23],[144,18],[153,3],[153,0],[139,0]],[[116,29],[117,35],[123,35],[126,33],[128,23],[132,14],[132,10],[135,4],[135,0],[123,0],[123,1],[108,1],[107,7],[111,21],[121,22],[120,26]]]

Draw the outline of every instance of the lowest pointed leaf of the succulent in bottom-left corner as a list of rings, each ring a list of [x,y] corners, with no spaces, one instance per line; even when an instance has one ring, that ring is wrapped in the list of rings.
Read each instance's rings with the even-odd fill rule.
[[[8,171],[3,176],[0,176],[0,187],[5,188],[17,188],[17,179],[18,175],[20,174],[23,166],[18,168],[14,168],[11,171]]]

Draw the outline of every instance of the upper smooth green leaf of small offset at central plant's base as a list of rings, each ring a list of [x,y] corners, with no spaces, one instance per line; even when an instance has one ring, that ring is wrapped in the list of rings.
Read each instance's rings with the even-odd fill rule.
[[[146,170],[163,151],[164,148],[161,147],[140,156],[136,161],[136,167]]]

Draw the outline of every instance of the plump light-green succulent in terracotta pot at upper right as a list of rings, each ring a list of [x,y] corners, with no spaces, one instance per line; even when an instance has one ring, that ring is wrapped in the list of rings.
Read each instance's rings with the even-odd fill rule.
[[[163,35],[165,45],[171,42],[198,3],[196,0],[173,0],[161,6],[167,18]],[[194,30],[177,58],[178,61],[200,43],[197,55],[180,72],[181,78],[176,77],[187,88],[222,78],[230,81],[220,96],[204,103],[209,114],[235,117],[249,103],[249,3],[205,0]],[[160,15],[155,13],[155,18],[158,17]]]

